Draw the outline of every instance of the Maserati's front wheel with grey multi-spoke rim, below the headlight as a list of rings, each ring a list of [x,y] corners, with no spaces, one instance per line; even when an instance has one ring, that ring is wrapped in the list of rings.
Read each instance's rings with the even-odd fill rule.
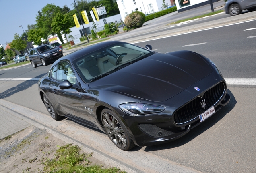
[[[113,111],[103,109],[101,112],[101,121],[109,139],[118,148],[128,151],[135,146],[128,129]]]

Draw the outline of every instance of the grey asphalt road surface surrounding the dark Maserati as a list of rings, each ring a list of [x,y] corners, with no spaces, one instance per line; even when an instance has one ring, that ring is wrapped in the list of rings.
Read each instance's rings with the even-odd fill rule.
[[[246,30],[251,28],[256,28],[255,21],[136,44],[143,47],[151,44],[159,52],[192,50],[211,58],[225,78],[256,78],[256,29]],[[38,78],[49,68],[50,65],[33,69],[29,64],[0,70],[0,79]],[[173,163],[188,167],[191,172],[255,172],[255,85],[228,85],[230,103],[184,137],[164,145],[134,147],[130,152],[117,149],[107,135],[99,131],[69,119],[60,122],[48,119],[36,80],[0,80],[0,88],[1,99],[43,113],[37,121],[140,172],[178,172],[172,170]]]

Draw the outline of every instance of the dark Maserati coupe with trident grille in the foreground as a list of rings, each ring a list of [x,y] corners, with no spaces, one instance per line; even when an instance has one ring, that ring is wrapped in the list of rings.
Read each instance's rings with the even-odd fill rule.
[[[178,139],[229,103],[217,66],[190,51],[103,42],[58,59],[39,82],[52,118],[100,129],[122,150]]]

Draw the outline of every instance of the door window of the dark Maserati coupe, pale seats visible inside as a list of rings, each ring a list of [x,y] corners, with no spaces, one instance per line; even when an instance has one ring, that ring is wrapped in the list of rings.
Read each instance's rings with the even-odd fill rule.
[[[72,84],[76,83],[76,77],[68,62],[61,62],[58,64],[56,79],[59,81],[68,80]]]

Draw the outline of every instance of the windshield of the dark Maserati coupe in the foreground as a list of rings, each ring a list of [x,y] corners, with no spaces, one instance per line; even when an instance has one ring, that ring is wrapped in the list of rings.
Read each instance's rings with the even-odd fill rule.
[[[82,56],[73,64],[81,78],[90,82],[152,54],[147,49],[121,42]]]

